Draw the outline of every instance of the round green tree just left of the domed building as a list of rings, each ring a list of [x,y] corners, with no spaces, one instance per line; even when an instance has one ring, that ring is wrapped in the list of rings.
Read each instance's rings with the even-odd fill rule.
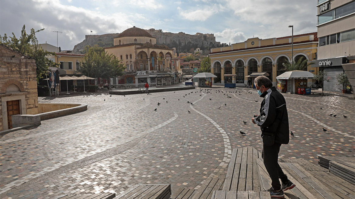
[[[92,78],[109,79],[122,75],[125,67],[113,54],[109,55],[102,47],[86,46],[85,57],[80,63],[79,72]]]

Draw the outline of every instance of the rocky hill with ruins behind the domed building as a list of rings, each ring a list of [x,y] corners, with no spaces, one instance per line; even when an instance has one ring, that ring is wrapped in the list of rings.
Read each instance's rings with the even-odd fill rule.
[[[211,48],[221,46],[220,42],[215,41],[213,34],[196,33],[195,35],[190,35],[183,32],[168,33],[162,32],[162,30],[155,30],[154,28],[146,31],[157,38],[157,44],[165,44],[169,48],[175,47],[177,52],[193,52],[196,48],[200,48],[204,55],[208,55]],[[113,46],[113,38],[118,35],[119,33],[85,35],[85,40],[75,45],[73,51],[81,51],[86,45]]]

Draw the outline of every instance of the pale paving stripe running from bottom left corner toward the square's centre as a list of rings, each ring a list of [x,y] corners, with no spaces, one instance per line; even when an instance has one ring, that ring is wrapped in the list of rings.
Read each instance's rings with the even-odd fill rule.
[[[132,141],[132,140],[134,140],[134,139],[136,139],[136,138],[142,136],[142,134],[143,134],[143,135],[144,135],[144,134],[148,134],[148,133],[150,133],[150,132],[153,132],[153,131],[155,131],[155,130],[157,130],[157,129],[159,129],[159,128],[161,128],[161,127],[163,127],[163,126],[165,126],[165,125],[167,125],[167,124],[169,124],[169,123],[171,123],[171,122],[174,121],[176,118],[178,118],[178,116],[179,116],[179,115],[174,112],[174,116],[173,116],[172,118],[170,118],[169,120],[165,121],[165,122],[162,123],[162,124],[159,124],[159,125],[157,125],[157,126],[152,127],[152,128],[149,129],[148,131],[143,131],[142,133],[139,133],[138,136],[131,137],[131,140],[128,140],[127,142]],[[107,150],[107,149],[106,149],[106,150]],[[99,152],[102,152],[102,151],[98,151],[98,153],[99,153]],[[90,155],[88,155],[87,157],[89,157],[89,156],[90,156]],[[86,158],[86,157],[82,157],[82,158]],[[75,161],[73,161],[73,162],[75,162]],[[9,184],[6,184],[4,187],[1,187],[1,189],[0,189],[0,194],[2,194],[2,193],[4,193],[4,192],[7,192],[7,191],[9,191],[9,190],[11,190],[12,188],[15,188],[15,187],[17,187],[17,186],[20,186],[21,184],[23,184],[23,183],[25,183],[25,182],[28,182],[28,181],[30,181],[30,180],[33,179],[33,178],[37,178],[37,177],[39,177],[39,176],[42,176],[43,174],[45,174],[45,173],[47,173],[47,172],[49,172],[49,171],[56,170],[56,169],[58,169],[58,168],[60,168],[60,167],[62,167],[62,166],[65,166],[65,165],[67,165],[67,164],[70,164],[70,163],[72,163],[72,162],[65,162],[65,164],[63,164],[63,162],[60,162],[60,163],[57,163],[57,164],[55,164],[55,165],[53,165],[53,166],[46,167],[46,168],[42,169],[42,171],[39,171],[39,172],[37,172],[37,173],[32,173],[32,174],[29,174],[29,175],[27,175],[27,176],[23,176],[22,179],[12,181],[12,182],[10,182]],[[24,180],[24,179],[26,179],[26,180]],[[12,187],[12,186],[13,186],[13,187]]]

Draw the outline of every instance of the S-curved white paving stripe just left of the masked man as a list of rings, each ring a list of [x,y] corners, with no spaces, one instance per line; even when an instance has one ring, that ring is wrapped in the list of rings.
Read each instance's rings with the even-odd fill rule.
[[[195,104],[196,102],[200,101],[201,99],[203,99],[204,96],[206,96],[206,94],[204,94],[200,99],[196,100],[193,103]],[[200,111],[196,110],[195,108],[193,108],[192,104],[190,104],[190,108],[192,110],[194,110],[195,112],[197,112],[198,114],[202,115],[208,121],[210,121],[222,134],[223,143],[224,143],[224,157],[223,157],[223,160],[221,161],[221,163],[219,164],[219,166],[222,166],[222,167],[228,166],[228,164],[230,162],[231,155],[232,155],[232,148],[230,146],[230,140],[229,140],[228,134],[215,121],[213,121],[211,118],[209,118],[209,116],[207,116],[207,115],[201,113]]]

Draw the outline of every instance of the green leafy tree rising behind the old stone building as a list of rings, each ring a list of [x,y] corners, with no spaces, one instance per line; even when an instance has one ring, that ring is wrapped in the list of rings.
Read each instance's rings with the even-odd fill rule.
[[[14,33],[12,33],[12,37],[10,37],[10,39],[8,39],[7,35],[4,34],[4,36],[0,35],[0,43],[10,49],[26,55],[27,57],[35,59],[38,83],[39,79],[42,78],[42,75],[47,73],[48,67],[57,67],[59,64],[56,64],[47,58],[50,55],[55,55],[54,52],[45,51],[38,45],[35,33],[38,33],[44,29],[35,31],[31,28],[31,34],[28,35],[25,28],[25,25],[23,25],[20,39],[17,39]]]

